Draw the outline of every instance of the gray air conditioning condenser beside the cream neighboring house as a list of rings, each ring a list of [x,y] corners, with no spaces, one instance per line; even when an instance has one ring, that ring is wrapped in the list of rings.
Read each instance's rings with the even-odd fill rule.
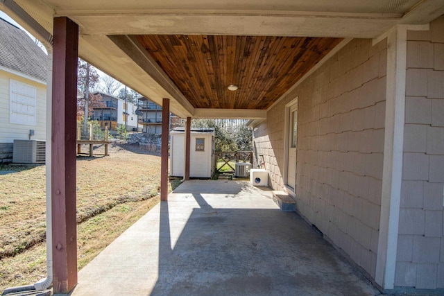
[[[16,164],[44,164],[45,153],[45,141],[16,139],[12,148],[12,162]]]

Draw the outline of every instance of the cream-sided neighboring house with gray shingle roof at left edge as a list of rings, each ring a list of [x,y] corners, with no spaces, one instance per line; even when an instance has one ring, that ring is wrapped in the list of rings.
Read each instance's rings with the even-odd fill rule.
[[[15,139],[46,139],[47,56],[31,37],[0,19],[0,163]]]

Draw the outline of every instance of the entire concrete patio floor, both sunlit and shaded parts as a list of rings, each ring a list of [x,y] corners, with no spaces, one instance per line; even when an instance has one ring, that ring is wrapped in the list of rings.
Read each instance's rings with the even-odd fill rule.
[[[84,295],[379,295],[271,191],[181,184],[78,273]]]

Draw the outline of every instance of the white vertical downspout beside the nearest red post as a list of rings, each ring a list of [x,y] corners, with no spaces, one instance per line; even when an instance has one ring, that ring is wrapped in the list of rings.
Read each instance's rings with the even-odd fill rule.
[[[46,290],[53,284],[53,225],[51,209],[51,134],[53,97],[53,52],[48,51],[48,73],[46,78],[46,277],[34,284],[37,291]]]

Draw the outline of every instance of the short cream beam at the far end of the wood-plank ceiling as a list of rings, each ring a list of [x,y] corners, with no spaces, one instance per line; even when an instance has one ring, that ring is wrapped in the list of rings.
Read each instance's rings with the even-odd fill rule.
[[[194,109],[196,119],[266,119],[266,110],[247,109]]]

